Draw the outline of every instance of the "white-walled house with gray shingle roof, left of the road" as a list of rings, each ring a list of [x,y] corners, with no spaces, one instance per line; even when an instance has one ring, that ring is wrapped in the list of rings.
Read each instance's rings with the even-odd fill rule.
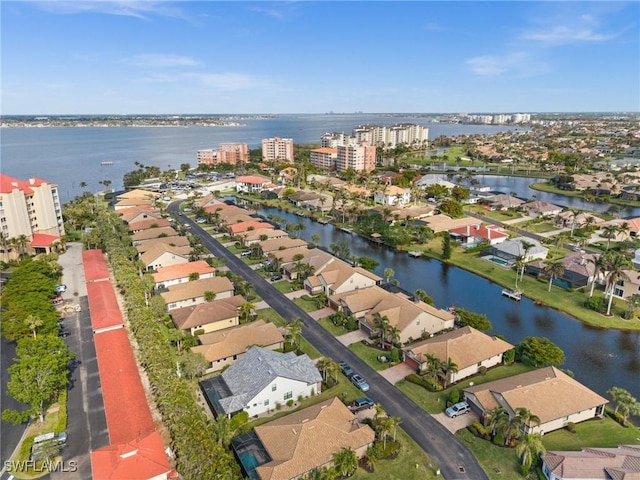
[[[267,413],[298,397],[317,395],[322,376],[307,354],[251,347],[220,375],[200,383],[216,415]]]

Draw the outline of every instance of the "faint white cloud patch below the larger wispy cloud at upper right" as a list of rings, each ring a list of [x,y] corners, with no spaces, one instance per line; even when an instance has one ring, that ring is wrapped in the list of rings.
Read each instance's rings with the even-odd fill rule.
[[[543,62],[524,51],[504,55],[479,55],[465,63],[472,73],[485,77],[507,74],[513,77],[530,77],[548,70]]]

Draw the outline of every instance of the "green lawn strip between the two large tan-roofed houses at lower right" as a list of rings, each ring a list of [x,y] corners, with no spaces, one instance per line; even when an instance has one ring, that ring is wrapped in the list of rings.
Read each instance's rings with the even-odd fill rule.
[[[519,375],[530,370],[533,370],[533,367],[519,362],[509,366],[500,365],[498,367],[490,368],[487,370],[485,375],[466,378],[440,392],[430,392],[420,385],[407,382],[406,380],[400,380],[396,383],[396,387],[398,387],[398,389],[400,389],[407,397],[413,400],[416,405],[427,413],[442,413],[446,407],[449,392],[454,388],[466,388],[469,386],[470,382],[473,382],[474,385],[480,385],[482,383],[492,382],[501,378]]]

